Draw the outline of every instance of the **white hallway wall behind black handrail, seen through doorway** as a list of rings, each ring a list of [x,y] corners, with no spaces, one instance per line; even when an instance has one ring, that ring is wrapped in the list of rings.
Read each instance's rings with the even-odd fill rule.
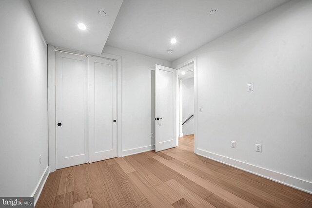
[[[182,121],[194,114],[194,77],[182,80]],[[182,127],[183,136],[194,134],[194,116]]]

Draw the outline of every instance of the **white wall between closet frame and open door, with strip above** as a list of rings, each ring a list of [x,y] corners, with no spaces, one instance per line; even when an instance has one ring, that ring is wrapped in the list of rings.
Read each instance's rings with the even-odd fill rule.
[[[122,155],[154,149],[152,79],[156,64],[170,67],[171,63],[110,46],[105,46],[103,52],[122,57]]]

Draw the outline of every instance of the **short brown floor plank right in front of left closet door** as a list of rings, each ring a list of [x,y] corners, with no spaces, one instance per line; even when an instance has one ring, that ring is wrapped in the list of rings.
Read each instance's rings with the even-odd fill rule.
[[[57,195],[74,191],[74,167],[62,169]]]

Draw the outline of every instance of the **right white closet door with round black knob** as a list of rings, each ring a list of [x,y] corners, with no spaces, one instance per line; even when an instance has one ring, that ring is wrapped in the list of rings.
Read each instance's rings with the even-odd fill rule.
[[[117,63],[89,57],[90,162],[117,157]]]

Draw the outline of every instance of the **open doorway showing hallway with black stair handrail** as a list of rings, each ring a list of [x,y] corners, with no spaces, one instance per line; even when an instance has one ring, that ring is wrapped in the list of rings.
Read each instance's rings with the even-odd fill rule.
[[[194,152],[195,138],[195,62],[192,61],[176,70],[177,81],[177,135],[178,145]]]

